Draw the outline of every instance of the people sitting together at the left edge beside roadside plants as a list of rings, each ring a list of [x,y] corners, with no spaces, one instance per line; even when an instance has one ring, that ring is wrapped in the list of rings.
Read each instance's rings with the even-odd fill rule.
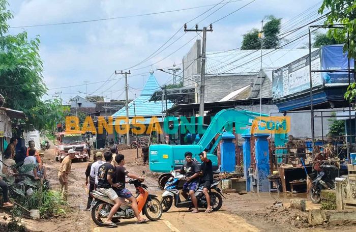
[[[10,139],[10,143],[4,151],[4,160],[2,161],[3,168],[0,169],[0,187],[2,189],[4,199],[3,207],[13,207],[13,204],[9,201],[8,186],[3,181],[2,175],[5,175],[6,177],[14,177],[18,175],[16,167],[29,163],[38,163],[38,165],[31,171],[27,172],[26,175],[32,176],[34,179],[43,178],[46,180],[45,167],[39,152],[35,149],[35,141],[28,141],[28,147],[21,147],[20,151],[16,153],[17,143],[18,140],[16,137],[12,137]]]

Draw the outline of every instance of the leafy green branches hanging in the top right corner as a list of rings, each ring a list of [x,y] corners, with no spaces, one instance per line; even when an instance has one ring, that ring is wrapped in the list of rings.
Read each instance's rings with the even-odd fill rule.
[[[342,28],[330,28],[328,32],[329,38],[334,38],[337,41],[344,41],[344,52],[347,51],[347,56],[351,59],[356,58],[356,2],[353,0],[323,0],[319,13],[322,14],[325,9],[330,9],[327,14],[327,19],[324,24],[335,25],[342,24]],[[349,34],[349,46],[347,41]],[[356,59],[355,66],[356,68]],[[344,95],[345,99],[352,101],[356,96],[356,85],[351,83]]]

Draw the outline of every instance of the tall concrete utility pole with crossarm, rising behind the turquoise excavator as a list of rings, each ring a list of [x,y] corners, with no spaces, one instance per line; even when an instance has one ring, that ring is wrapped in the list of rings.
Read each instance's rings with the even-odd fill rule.
[[[203,46],[201,49],[201,72],[200,72],[200,102],[199,102],[199,116],[204,118],[204,89],[205,89],[205,51],[206,51],[206,32],[213,32],[213,25],[209,25],[209,30],[206,26],[202,30],[198,29],[198,24],[195,24],[194,29],[187,29],[187,24],[184,24],[185,32],[203,32]]]

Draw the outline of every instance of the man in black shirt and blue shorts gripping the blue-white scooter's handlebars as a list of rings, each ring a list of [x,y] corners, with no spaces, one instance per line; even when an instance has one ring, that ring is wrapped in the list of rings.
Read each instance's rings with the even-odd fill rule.
[[[184,174],[187,178],[187,182],[184,183],[182,189],[182,195],[187,199],[189,192],[189,196],[192,199],[194,210],[192,211],[193,214],[198,213],[198,201],[194,195],[196,190],[199,187],[199,174],[200,170],[198,164],[192,160],[193,154],[191,152],[186,152],[184,154],[186,157],[186,162],[183,164],[181,169],[174,170],[176,172]]]

